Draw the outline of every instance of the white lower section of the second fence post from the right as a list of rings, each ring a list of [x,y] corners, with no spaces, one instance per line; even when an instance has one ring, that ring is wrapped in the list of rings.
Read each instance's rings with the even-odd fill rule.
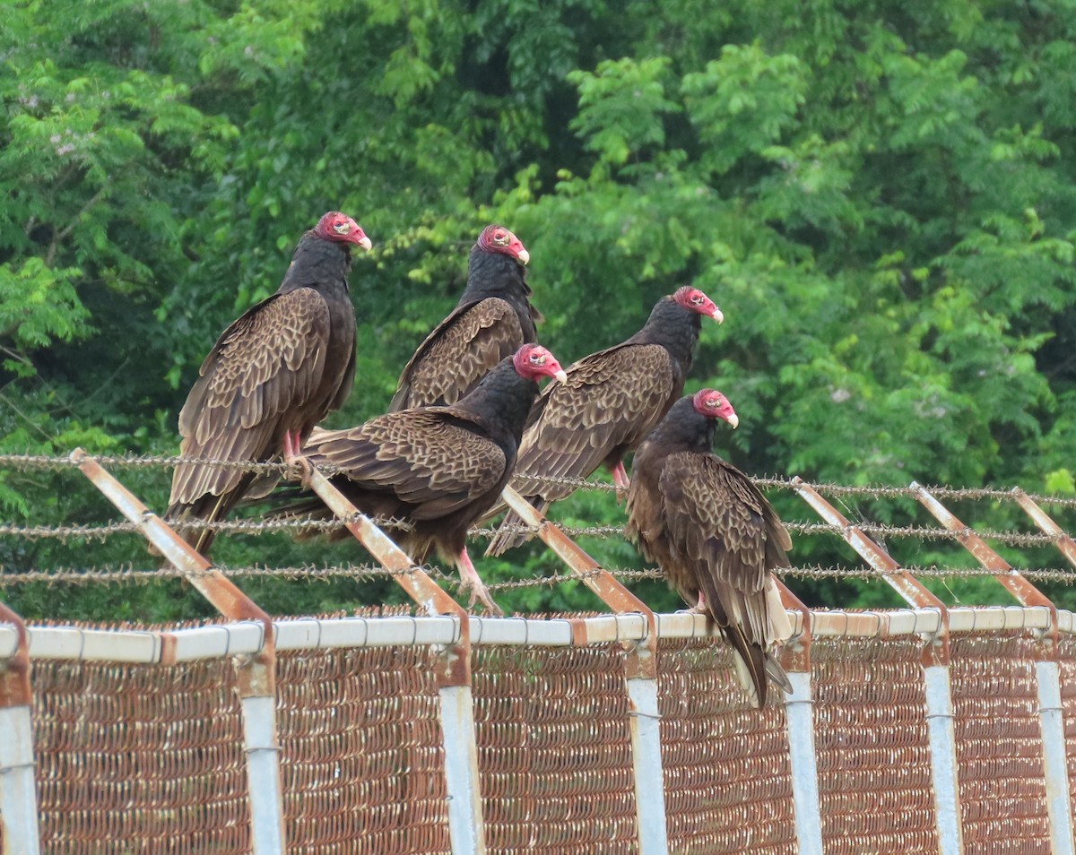
[[[957,780],[957,737],[952,726],[952,693],[949,666],[923,669],[926,690],[926,728],[931,739],[931,779],[940,855],[960,855],[964,837],[960,823],[960,788]]]

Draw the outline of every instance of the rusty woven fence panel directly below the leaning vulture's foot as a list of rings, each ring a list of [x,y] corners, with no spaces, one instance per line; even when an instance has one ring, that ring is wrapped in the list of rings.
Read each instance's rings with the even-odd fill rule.
[[[278,657],[288,852],[450,852],[434,652]]]

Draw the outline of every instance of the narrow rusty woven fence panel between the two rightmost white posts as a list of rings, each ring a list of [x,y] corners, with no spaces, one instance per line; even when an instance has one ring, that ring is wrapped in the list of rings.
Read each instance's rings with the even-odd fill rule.
[[[1050,851],[1034,644],[1027,638],[952,641],[960,809],[968,852]]]

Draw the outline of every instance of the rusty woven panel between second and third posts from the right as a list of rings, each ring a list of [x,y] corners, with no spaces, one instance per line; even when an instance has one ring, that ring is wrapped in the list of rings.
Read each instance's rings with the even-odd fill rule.
[[[818,639],[815,750],[826,853],[936,853],[920,645]]]

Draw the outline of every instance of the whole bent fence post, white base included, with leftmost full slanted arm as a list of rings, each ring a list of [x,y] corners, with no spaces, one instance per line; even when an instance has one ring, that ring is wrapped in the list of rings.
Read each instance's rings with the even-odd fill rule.
[[[70,457],[143,537],[184,571],[187,581],[222,615],[261,625],[259,650],[251,656],[235,657],[233,661],[243,711],[253,850],[255,855],[284,855],[287,840],[277,739],[277,647],[271,618],[85,451],[75,448]]]

